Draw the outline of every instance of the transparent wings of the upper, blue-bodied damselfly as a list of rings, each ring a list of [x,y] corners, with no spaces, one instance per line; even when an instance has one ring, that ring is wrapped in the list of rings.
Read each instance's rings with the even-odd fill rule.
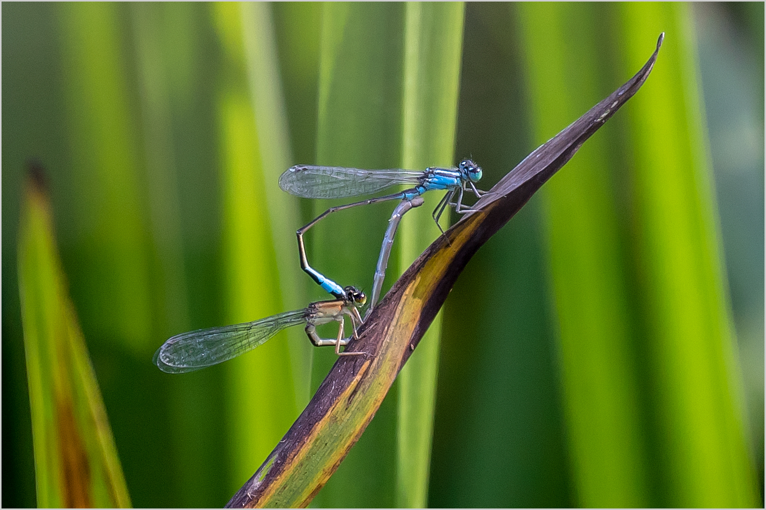
[[[280,188],[303,198],[370,195],[393,185],[418,185],[424,172],[297,165],[280,175]]]

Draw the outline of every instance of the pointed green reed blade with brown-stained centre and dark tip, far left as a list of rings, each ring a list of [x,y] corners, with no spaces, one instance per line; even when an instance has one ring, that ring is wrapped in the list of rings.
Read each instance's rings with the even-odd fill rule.
[[[38,506],[126,508],[128,490],[68,296],[41,172],[27,181],[18,242]]]

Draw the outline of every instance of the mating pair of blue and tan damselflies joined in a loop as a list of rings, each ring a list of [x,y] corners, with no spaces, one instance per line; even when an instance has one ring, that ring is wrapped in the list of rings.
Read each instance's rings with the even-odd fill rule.
[[[160,370],[174,374],[195,371],[235,358],[258,345],[262,345],[283,329],[303,324],[306,325],[306,335],[313,345],[318,347],[334,345],[338,355],[364,355],[364,352],[340,352],[340,348],[348,345],[350,341],[350,338],[342,338],[346,315],[352,322],[352,336],[357,338],[356,329],[362,324],[362,316],[358,309],[365,305],[367,296],[354,286],[340,286],[309,266],[306,248],[303,244],[303,234],[317,222],[334,212],[382,201],[401,201],[391,215],[389,227],[381,246],[381,256],[378,258],[378,266],[375,270],[370,303],[372,309],[372,306],[375,306],[375,302],[377,302],[383,283],[388,253],[391,251],[394,233],[401,215],[410,208],[423,204],[421,195],[432,190],[447,191],[432,213],[437,226],[439,226],[439,218],[447,206],[453,207],[455,211],[461,214],[473,212],[473,209],[463,205],[463,194],[466,191],[472,191],[476,197],[483,195],[484,192],[477,189],[475,185],[481,177],[482,169],[470,159],[461,161],[457,168],[430,167],[421,172],[402,169],[362,170],[361,168],[318,165],[296,165],[289,168],[280,176],[280,188],[291,195],[302,198],[349,198],[372,195],[394,185],[411,185],[412,187],[390,195],[329,208],[297,230],[301,269],[335,299],[312,302],[304,309],[271,315],[266,319],[253,322],[200,329],[175,335],[157,349],[154,355],[155,364]],[[439,229],[441,230],[440,226]],[[444,234],[444,230],[441,231]],[[339,322],[337,337],[320,338],[316,333],[316,325],[333,321]]]

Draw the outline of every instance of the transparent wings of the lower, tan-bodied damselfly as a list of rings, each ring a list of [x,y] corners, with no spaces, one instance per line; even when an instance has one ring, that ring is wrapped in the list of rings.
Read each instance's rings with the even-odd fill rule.
[[[279,313],[254,322],[182,333],[162,344],[154,353],[153,361],[169,374],[199,370],[236,358],[283,329],[303,322],[306,322],[306,309]]]

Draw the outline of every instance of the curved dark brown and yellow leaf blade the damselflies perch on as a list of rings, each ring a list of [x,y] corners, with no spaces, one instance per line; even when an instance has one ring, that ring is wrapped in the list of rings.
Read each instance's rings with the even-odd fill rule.
[[[302,506],[332,476],[349,452],[447,299],[457,276],[581,145],[635,94],[649,76],[662,45],[622,87],[535,149],[476,202],[476,213],[439,237],[404,272],[359,330],[311,402],[260,469],[228,507]]]

